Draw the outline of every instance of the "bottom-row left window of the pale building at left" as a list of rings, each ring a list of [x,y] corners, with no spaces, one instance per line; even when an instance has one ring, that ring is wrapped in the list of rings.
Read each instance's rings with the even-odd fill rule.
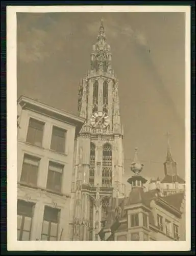
[[[34,203],[18,200],[17,202],[17,240],[29,241],[33,219]]]

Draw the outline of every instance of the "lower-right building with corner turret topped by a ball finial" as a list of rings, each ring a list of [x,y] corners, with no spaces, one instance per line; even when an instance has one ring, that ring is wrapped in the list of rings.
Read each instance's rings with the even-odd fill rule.
[[[143,165],[137,152],[128,179],[132,190],[124,199],[113,198],[107,209],[104,241],[185,241],[185,193],[162,196],[158,188],[144,191],[146,180],[140,175]]]

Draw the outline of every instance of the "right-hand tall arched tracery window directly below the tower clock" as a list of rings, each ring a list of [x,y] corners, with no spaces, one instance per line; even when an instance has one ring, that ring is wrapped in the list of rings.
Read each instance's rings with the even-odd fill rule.
[[[112,148],[109,143],[103,146],[103,170],[102,170],[102,186],[112,186]]]

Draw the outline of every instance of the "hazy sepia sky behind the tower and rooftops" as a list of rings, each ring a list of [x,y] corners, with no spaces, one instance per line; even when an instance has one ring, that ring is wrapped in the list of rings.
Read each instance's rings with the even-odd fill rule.
[[[171,154],[185,178],[185,14],[17,13],[17,96],[77,114],[101,19],[119,80],[125,179],[134,148],[142,175],[163,178]]]

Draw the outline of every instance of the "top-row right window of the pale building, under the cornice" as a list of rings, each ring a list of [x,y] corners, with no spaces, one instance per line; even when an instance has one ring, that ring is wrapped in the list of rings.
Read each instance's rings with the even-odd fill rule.
[[[52,140],[51,140],[51,150],[59,153],[65,153],[65,137],[66,131],[53,126]]]

